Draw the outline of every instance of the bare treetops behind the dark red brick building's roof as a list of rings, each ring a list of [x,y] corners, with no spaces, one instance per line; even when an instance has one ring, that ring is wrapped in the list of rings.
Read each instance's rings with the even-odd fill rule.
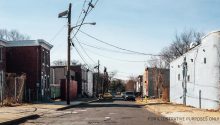
[[[16,40],[29,40],[28,35],[21,34],[17,30],[8,31],[7,29],[0,29],[0,39],[5,39],[7,41],[16,41]]]

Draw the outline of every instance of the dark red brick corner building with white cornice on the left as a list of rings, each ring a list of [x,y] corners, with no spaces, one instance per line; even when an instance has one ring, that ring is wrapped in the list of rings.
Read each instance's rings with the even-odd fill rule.
[[[7,41],[6,71],[26,73],[25,99],[44,101],[50,98],[50,49],[42,39]]]

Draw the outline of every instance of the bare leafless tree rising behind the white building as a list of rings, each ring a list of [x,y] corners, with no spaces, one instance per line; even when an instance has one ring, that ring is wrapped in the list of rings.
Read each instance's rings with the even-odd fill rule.
[[[201,39],[204,33],[197,32],[195,30],[184,31],[181,34],[175,35],[175,38],[170,46],[162,49],[160,55],[161,59],[169,65],[169,63],[183,55],[190,50],[191,42],[195,42],[197,45],[201,43]]]

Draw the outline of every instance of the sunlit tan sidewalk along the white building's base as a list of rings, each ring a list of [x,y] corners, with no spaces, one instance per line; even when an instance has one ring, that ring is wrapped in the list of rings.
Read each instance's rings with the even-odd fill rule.
[[[159,99],[151,99],[147,102],[137,100],[136,103],[145,104],[147,110],[166,117],[166,119],[148,118],[150,120],[169,120],[181,125],[219,125],[220,123],[220,111],[166,103]]]

